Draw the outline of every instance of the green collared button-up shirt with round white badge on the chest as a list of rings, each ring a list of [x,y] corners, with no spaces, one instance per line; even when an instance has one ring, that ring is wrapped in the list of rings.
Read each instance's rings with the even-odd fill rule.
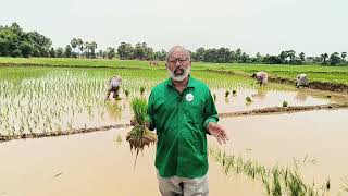
[[[157,85],[149,97],[150,130],[157,130],[156,167],[162,177],[201,177],[208,171],[207,125],[217,122],[208,86],[191,76],[178,93],[172,79]]]

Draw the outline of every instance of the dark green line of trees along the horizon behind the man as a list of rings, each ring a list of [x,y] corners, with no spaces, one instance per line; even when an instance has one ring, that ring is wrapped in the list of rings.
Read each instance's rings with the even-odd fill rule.
[[[51,39],[37,32],[23,32],[17,23],[11,26],[0,26],[0,56],[2,57],[51,57],[51,58],[120,58],[122,60],[159,60],[163,61],[166,51],[154,51],[146,42],[134,46],[121,42],[116,48],[108,47],[104,51],[97,51],[96,41],[84,41],[73,38],[70,45],[52,48]],[[263,63],[263,64],[348,64],[347,52],[322,53],[319,57],[306,57],[304,52],[296,54],[294,50],[282,51],[279,54],[265,54],[260,52],[250,56],[241,49],[203,48],[191,52],[192,61],[214,63]]]

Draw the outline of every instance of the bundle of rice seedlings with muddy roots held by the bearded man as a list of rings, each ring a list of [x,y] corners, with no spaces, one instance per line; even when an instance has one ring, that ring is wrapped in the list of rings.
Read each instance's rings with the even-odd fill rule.
[[[147,124],[149,123],[147,105],[148,103],[145,98],[134,98],[130,101],[135,126],[127,133],[126,140],[130,145],[130,151],[134,150],[136,152],[134,167],[139,151],[142,151],[145,146],[149,146],[157,142],[157,135],[147,127]]]

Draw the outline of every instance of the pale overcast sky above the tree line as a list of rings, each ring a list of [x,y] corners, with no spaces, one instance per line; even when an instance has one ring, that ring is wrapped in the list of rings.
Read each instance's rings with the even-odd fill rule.
[[[79,37],[98,49],[146,41],[252,56],[348,51],[348,0],[1,0],[0,25],[12,22],[54,47]]]

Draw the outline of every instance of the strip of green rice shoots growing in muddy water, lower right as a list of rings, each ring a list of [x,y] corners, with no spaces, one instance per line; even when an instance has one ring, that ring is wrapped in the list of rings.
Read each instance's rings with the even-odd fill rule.
[[[232,171],[237,174],[244,173],[253,180],[261,180],[268,195],[318,195],[319,189],[315,192],[314,181],[312,185],[306,184],[298,173],[297,166],[294,170],[279,168],[278,166],[268,169],[256,161],[244,160],[241,156],[236,158],[234,155],[226,155],[215,147],[209,149],[209,155],[222,163],[225,174]],[[321,187],[325,187],[326,184]],[[348,192],[348,179],[343,180],[341,188]]]

